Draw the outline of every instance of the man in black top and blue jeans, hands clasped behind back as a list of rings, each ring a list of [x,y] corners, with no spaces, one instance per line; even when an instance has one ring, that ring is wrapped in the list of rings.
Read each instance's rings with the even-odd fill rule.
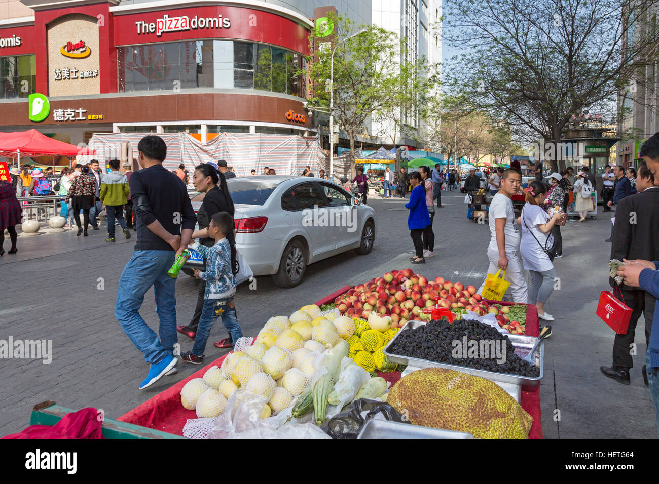
[[[140,171],[130,175],[130,196],[137,216],[135,252],[119,278],[115,317],[121,328],[151,364],[140,383],[150,387],[163,375],[175,373],[176,278],[167,271],[183,254],[192,237],[196,217],[188,190],[178,176],[163,167],[167,146],[159,136],[144,136],[137,146]],[[158,335],[140,315],[144,294],[153,286]]]

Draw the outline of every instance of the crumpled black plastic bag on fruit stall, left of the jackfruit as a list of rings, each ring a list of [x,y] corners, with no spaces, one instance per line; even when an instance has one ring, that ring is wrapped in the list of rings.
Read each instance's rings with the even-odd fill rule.
[[[368,412],[362,417],[363,412]],[[357,439],[359,431],[366,422],[378,414],[384,415],[385,419],[394,422],[409,423],[403,420],[403,416],[387,402],[360,398],[355,400],[340,414],[332,417],[320,427],[332,439]]]

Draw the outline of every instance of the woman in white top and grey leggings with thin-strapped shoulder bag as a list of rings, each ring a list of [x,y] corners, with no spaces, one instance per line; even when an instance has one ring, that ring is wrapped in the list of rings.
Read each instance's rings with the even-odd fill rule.
[[[544,310],[544,305],[554,290],[558,275],[544,250],[549,249],[554,242],[551,232],[561,213],[556,212],[550,217],[542,209],[542,203],[547,198],[547,190],[546,184],[537,180],[531,182],[529,186],[527,203],[522,209],[522,238],[519,252],[524,261],[524,268],[531,276],[529,304],[536,305],[540,319],[554,321],[554,317]]]

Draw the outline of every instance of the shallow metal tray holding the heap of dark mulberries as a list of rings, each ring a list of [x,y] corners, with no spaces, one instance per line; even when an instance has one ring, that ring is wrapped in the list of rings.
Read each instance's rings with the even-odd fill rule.
[[[540,342],[538,348],[534,352],[534,357],[536,360],[536,366],[540,368],[540,375],[537,377],[524,377],[522,375],[512,375],[511,373],[498,373],[496,371],[484,371],[482,369],[474,369],[468,366],[460,365],[451,365],[449,363],[437,363],[431,362],[429,360],[422,360],[420,358],[411,358],[409,356],[401,356],[396,354],[391,354],[389,348],[393,342],[401,335],[404,331],[409,331],[410,329],[418,328],[419,326],[426,325],[425,321],[409,321],[405,324],[405,327],[398,333],[396,333],[391,341],[385,346],[382,352],[386,355],[387,359],[392,363],[401,363],[403,365],[409,365],[417,368],[428,368],[428,367],[438,367],[438,368],[447,368],[455,369],[457,371],[462,371],[463,373],[469,373],[471,375],[477,375],[479,377],[486,378],[494,382],[503,382],[503,383],[514,383],[516,385],[522,385],[523,387],[536,387],[542,377],[544,377],[544,340]],[[524,358],[529,354],[531,348],[535,344],[535,336],[525,336],[525,335],[506,335],[510,338],[515,348],[515,354],[519,355],[521,358]]]

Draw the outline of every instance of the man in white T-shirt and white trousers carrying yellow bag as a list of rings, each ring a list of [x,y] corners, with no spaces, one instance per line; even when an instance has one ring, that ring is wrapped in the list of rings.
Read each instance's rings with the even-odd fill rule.
[[[492,237],[488,246],[488,274],[496,274],[499,269],[505,271],[505,280],[510,282],[513,302],[527,304],[529,290],[519,259],[520,221],[519,217],[515,219],[511,199],[519,192],[521,183],[522,175],[519,170],[504,170],[501,175],[501,189],[490,203],[488,223]],[[482,294],[484,286],[485,281],[478,289],[478,294]]]

